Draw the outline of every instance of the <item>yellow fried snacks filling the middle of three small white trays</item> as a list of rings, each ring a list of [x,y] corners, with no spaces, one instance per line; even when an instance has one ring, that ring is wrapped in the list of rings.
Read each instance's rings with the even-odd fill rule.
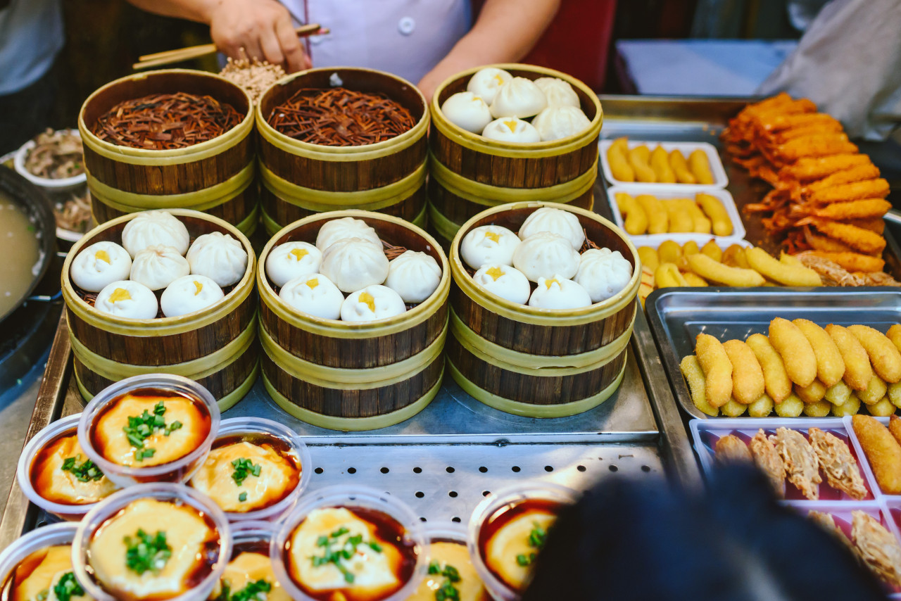
[[[660,199],[650,194],[615,195],[623,229],[633,236],[649,233],[714,233],[730,236],[732,220],[719,198],[703,192],[691,198]]]

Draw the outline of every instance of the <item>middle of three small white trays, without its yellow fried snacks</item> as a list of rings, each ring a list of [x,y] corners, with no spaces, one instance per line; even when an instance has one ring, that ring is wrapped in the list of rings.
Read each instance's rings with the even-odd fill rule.
[[[657,196],[660,200],[668,200],[669,198],[694,198],[698,192],[703,192],[705,194],[709,194],[710,196],[715,196],[726,210],[726,213],[729,214],[729,219],[733,223],[733,232],[728,236],[714,236],[712,233],[694,233],[694,232],[682,232],[682,233],[645,233],[641,235],[632,235],[630,233],[626,233],[629,236],[629,239],[633,241],[635,246],[653,246],[657,248],[660,246],[660,243],[666,240],[674,240],[679,244],[685,244],[687,241],[694,240],[700,246],[703,242],[706,242],[713,238],[718,244],[724,245],[723,248],[733,244],[736,241],[743,241],[744,236],[747,232],[745,232],[744,224],[742,223],[742,215],[738,212],[738,207],[735,205],[735,200],[733,196],[729,194],[727,190],[720,190],[715,188],[706,188],[706,189],[695,189],[688,190],[688,187],[673,187],[672,184],[668,184],[667,186],[661,186],[658,184],[641,184],[641,185],[633,185],[633,186],[611,186],[607,188],[607,201],[610,203],[610,208],[614,214],[614,221],[616,225],[618,225],[623,232],[625,229],[623,228],[623,214],[621,214],[619,205],[616,204],[616,194],[618,192],[624,192],[630,196],[639,196],[642,194],[648,194],[651,196]]]

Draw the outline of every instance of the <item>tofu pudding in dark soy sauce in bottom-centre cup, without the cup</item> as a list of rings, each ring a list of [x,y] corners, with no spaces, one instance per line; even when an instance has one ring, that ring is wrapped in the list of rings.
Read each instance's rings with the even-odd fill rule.
[[[381,601],[413,578],[414,542],[392,516],[343,506],[314,509],[287,537],[289,578],[319,601]]]

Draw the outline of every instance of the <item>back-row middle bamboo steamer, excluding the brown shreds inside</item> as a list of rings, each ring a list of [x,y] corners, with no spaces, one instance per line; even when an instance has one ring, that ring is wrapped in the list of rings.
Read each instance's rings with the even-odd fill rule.
[[[332,87],[335,75],[343,87],[385,94],[405,106],[416,120],[413,129],[376,144],[323,146],[269,125],[274,107],[298,89]],[[278,81],[259,99],[256,111],[263,223],[270,235],[308,215],[341,209],[423,223],[429,107],[413,84],[375,69],[314,68]]]

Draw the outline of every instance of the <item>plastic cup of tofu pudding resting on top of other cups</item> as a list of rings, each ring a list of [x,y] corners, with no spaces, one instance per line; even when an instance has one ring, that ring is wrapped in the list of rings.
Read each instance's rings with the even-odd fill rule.
[[[219,419],[216,399],[194,380],[134,376],[105,387],[87,404],[78,442],[121,487],[184,483],[213,446]]]

